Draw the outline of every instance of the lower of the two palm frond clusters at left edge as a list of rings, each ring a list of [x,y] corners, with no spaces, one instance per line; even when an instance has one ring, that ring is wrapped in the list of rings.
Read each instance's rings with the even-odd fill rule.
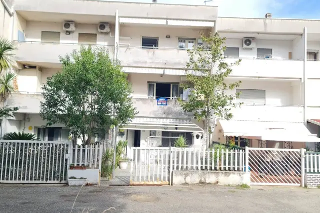
[[[0,74],[0,101],[4,101],[15,91],[13,79],[16,75],[11,71],[2,71]]]

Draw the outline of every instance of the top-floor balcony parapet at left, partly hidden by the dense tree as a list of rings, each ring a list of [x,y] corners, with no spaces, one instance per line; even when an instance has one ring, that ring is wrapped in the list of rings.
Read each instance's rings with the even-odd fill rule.
[[[105,47],[109,50],[110,56],[113,57],[113,46],[97,45]],[[59,66],[59,56],[65,56],[72,51],[79,50],[80,44],[73,43],[47,43],[47,42],[16,42],[17,50],[15,58],[18,62],[28,62],[32,65],[40,65],[41,63],[52,63]]]

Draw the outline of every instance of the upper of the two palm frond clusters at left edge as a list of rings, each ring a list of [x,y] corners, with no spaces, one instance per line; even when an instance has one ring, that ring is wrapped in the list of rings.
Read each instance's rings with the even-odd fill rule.
[[[0,71],[11,68],[13,64],[13,53],[15,46],[11,41],[0,38]]]

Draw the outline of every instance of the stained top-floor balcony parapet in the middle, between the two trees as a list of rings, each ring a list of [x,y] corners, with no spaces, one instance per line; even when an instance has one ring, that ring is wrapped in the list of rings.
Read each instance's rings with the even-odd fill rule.
[[[183,68],[188,61],[188,53],[177,48],[142,49],[138,46],[118,46],[117,59],[122,66]]]

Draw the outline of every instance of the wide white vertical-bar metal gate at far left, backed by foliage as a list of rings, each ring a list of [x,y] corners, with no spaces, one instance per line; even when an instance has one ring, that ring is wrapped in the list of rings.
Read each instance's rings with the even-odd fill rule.
[[[0,183],[67,183],[71,142],[0,141]]]

